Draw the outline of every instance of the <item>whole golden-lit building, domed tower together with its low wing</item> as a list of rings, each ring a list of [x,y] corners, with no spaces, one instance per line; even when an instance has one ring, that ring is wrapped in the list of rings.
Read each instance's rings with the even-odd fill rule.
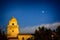
[[[12,17],[9,20],[7,26],[7,38],[8,40],[28,40],[29,38],[34,38],[33,34],[20,33],[19,25],[16,18]]]

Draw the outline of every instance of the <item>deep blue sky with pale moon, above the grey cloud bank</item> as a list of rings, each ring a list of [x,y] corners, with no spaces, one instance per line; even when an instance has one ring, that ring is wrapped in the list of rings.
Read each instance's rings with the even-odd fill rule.
[[[57,0],[0,1],[0,25],[6,27],[12,16],[20,27],[60,22],[59,3]]]

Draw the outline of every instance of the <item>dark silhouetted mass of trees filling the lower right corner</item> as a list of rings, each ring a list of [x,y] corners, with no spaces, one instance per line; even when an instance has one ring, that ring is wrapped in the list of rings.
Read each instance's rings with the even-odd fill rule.
[[[35,30],[34,40],[60,40],[60,26],[56,30],[47,29],[44,26]]]

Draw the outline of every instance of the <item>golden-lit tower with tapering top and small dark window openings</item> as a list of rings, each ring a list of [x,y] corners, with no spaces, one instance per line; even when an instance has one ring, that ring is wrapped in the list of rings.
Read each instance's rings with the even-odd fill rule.
[[[7,26],[7,37],[17,37],[19,34],[19,26],[16,18],[12,17]]]

